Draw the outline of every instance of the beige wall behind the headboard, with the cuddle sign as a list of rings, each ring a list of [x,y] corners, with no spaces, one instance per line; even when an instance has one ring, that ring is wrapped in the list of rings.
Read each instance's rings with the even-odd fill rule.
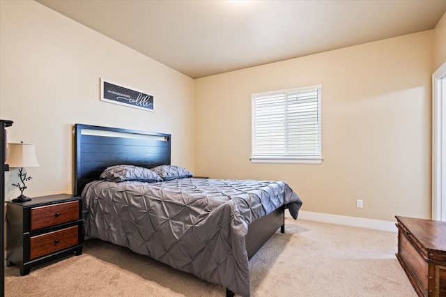
[[[166,132],[172,163],[194,170],[194,81],[35,1],[0,1],[0,119],[36,144],[29,196],[72,192],[74,123]],[[99,79],[155,96],[155,112],[99,100]],[[6,174],[6,199],[18,189]]]

